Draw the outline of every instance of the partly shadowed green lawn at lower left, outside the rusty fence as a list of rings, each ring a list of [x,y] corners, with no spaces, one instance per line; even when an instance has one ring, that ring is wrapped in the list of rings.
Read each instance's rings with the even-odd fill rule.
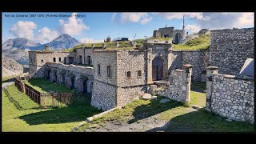
[[[10,86],[7,90],[13,98],[22,96],[21,93],[18,93],[16,87]],[[16,100],[20,106],[26,103],[27,108],[36,105],[30,98],[16,98]],[[99,110],[90,106],[90,102],[83,103],[80,106],[69,106],[58,109],[18,110],[14,102],[11,102],[2,90],[2,131],[4,132],[68,132],[74,126],[84,121],[85,118],[98,114],[99,112]]]

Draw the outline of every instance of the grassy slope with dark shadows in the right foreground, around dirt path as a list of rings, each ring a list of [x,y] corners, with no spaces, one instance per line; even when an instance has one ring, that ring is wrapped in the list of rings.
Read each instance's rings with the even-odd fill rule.
[[[205,106],[206,93],[205,83],[193,83],[190,91],[190,104]],[[254,126],[245,122],[226,122],[225,118],[218,115],[210,114],[205,110],[191,112],[191,108],[184,106],[181,102],[170,101],[160,103],[162,97],[157,100],[135,100],[126,104],[124,109],[114,110],[100,118],[95,118],[92,123],[80,127],[78,131],[84,131],[89,126],[98,124],[103,126],[104,123],[110,121],[118,122],[139,122],[142,118],[160,114],[160,120],[172,121],[166,131],[253,131]],[[129,120],[134,116],[132,120]]]

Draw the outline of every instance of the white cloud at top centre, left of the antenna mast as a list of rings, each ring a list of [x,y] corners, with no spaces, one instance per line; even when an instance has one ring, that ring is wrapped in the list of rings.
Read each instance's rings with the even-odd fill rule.
[[[121,13],[121,14],[114,13],[112,14],[111,21],[114,22],[114,21],[117,21],[117,19],[118,19],[118,22],[122,22],[122,23],[140,22],[142,25],[146,25],[153,18],[150,17],[148,13]]]

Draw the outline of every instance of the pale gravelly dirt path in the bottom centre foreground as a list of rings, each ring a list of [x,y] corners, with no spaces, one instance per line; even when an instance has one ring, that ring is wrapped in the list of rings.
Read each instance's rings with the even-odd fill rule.
[[[196,111],[190,108],[190,111]],[[161,114],[161,113],[160,113]],[[93,125],[85,132],[164,132],[171,121],[163,121],[158,117],[160,114],[139,120],[138,122],[107,122],[104,126]],[[130,120],[133,119],[130,118]]]

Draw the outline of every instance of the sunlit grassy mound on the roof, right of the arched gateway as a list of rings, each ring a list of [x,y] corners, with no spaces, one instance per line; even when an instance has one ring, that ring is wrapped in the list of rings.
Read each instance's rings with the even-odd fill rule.
[[[210,35],[200,35],[185,44],[174,44],[173,50],[207,50],[210,46]]]

